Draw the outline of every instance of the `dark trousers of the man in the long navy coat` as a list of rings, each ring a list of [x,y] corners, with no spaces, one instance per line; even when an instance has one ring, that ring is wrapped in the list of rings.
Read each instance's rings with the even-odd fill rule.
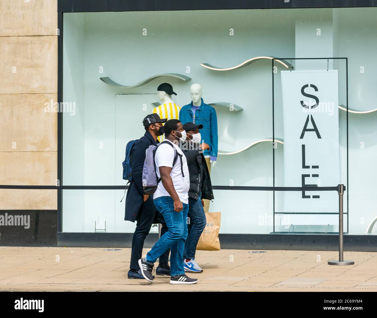
[[[143,207],[136,218],[136,229],[132,237],[130,269],[140,269],[138,260],[143,253],[144,240],[149,234],[152,224],[156,223],[162,224],[161,236],[164,235],[168,231],[164,217],[162,217],[160,212],[156,211],[153,200],[149,197],[148,200],[143,203]],[[159,257],[159,262],[167,263],[169,260],[169,253],[170,249]]]

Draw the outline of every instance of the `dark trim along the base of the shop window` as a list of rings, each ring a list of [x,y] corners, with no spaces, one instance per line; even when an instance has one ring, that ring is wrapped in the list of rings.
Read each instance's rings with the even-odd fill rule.
[[[130,248],[133,233],[58,233],[58,247]],[[158,240],[157,233],[147,235],[144,248]],[[339,250],[336,234],[219,234],[221,249],[250,250]],[[377,252],[377,235],[344,235],[344,250]],[[216,252],[214,252],[216,253]]]

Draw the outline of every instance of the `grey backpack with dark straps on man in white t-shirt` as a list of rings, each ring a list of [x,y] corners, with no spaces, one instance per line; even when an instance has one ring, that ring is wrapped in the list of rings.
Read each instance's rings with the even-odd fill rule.
[[[182,177],[184,177],[183,167],[182,167],[182,155],[176,151],[175,147],[169,141],[166,141],[166,140],[162,141],[162,143],[160,143],[159,145],[163,143],[170,144],[170,146],[172,146],[175,151],[175,156],[173,159],[173,167],[177,161],[178,156],[181,159],[181,171],[182,171]],[[157,190],[158,183],[161,181],[161,178],[157,178],[157,174],[156,174],[155,156],[156,156],[157,147],[152,144],[145,151],[142,183],[143,183],[144,192],[149,195],[153,195],[153,193],[155,193],[155,191]]]

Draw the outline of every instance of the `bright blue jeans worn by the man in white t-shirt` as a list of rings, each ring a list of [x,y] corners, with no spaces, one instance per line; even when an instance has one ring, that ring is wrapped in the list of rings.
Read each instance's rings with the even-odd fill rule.
[[[170,247],[170,275],[183,275],[183,251],[187,238],[187,213],[189,204],[183,204],[183,210],[174,210],[174,201],[171,197],[159,197],[153,200],[156,209],[162,214],[168,231],[160,237],[152,249],[147,253],[147,262],[155,263],[157,258]]]

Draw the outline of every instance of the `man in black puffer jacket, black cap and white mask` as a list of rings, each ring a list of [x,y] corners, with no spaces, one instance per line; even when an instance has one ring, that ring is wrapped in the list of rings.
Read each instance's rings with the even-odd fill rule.
[[[183,129],[187,133],[187,140],[181,144],[182,152],[187,159],[187,166],[190,173],[190,190],[189,190],[189,236],[185,242],[184,269],[185,272],[201,273],[203,270],[195,261],[196,245],[202,234],[206,218],[204,213],[204,201],[202,199],[212,200],[213,191],[210,174],[203,155],[203,150],[209,148],[208,144],[201,143],[199,129],[203,125],[185,123]]]

